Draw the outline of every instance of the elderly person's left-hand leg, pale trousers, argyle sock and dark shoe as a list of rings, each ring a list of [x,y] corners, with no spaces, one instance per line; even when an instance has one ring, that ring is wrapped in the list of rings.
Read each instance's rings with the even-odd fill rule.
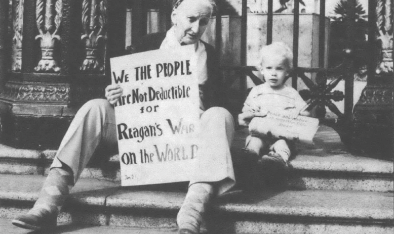
[[[78,110],[63,137],[40,197],[27,215],[17,217],[13,224],[28,229],[55,226],[69,190],[99,145],[116,149],[114,110],[104,99],[89,101]]]

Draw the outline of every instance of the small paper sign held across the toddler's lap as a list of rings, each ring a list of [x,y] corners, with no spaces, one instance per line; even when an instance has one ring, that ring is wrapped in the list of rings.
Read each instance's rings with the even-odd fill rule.
[[[319,128],[319,119],[298,116],[293,119],[287,111],[268,111],[265,117],[254,117],[249,123],[252,136],[286,138],[304,144],[313,144]]]

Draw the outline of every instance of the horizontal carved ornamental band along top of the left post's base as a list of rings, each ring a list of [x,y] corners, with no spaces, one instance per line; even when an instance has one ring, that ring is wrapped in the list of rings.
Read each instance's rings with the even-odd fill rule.
[[[22,84],[9,82],[1,97],[13,101],[68,102],[69,85]]]

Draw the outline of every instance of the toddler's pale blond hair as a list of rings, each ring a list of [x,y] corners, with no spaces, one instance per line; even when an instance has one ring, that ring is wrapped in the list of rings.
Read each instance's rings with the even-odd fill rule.
[[[260,59],[257,68],[261,70],[264,66],[264,60],[272,58],[272,56],[282,57],[285,64],[288,65],[289,71],[293,69],[293,52],[290,47],[282,42],[272,42],[269,45],[265,45],[260,50]]]

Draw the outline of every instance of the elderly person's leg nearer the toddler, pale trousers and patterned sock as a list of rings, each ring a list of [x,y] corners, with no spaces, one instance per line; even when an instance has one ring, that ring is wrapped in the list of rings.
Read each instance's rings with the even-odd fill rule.
[[[235,184],[230,155],[234,135],[231,114],[220,107],[208,109],[201,116],[200,130],[200,138],[206,146],[199,150],[189,190],[177,216],[179,233],[182,233],[182,229],[199,233],[211,198],[226,192]]]

